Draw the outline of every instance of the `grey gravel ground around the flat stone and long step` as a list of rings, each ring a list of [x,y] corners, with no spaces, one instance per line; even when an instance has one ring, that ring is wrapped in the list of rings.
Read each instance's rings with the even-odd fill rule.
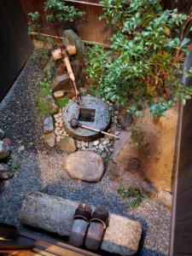
[[[38,62],[27,61],[0,103],[0,127],[13,141],[13,157],[20,165],[15,177],[9,180],[8,188],[0,194],[0,221],[20,225],[18,214],[23,198],[39,190],[73,201],[102,205],[111,212],[137,219],[144,230],[143,246],[138,255],[167,255],[171,212],[158,199],[145,200],[140,207],[128,209],[126,201],[116,192],[117,184],[108,180],[108,173],[100,183],[74,181],[63,172],[67,154],[59,148],[44,148],[42,119],[34,101],[35,84],[41,77]]]

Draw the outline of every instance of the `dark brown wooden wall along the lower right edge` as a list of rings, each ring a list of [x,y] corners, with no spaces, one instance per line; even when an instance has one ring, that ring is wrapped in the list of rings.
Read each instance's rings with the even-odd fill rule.
[[[192,100],[181,107],[170,256],[192,255]]]

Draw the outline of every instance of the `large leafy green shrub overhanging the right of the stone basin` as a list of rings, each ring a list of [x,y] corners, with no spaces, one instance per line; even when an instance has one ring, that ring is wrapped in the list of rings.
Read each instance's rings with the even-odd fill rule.
[[[103,16],[118,31],[111,38],[111,49],[96,45],[88,53],[86,73],[99,84],[100,94],[128,104],[136,115],[147,102],[152,117],[189,99],[192,88],[180,83],[181,57],[189,49],[183,33],[188,16],[177,14],[177,9],[163,10],[158,0],[101,3]]]

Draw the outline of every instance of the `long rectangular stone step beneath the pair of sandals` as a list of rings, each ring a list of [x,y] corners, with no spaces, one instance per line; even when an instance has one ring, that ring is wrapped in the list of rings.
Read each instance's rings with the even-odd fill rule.
[[[36,228],[69,236],[73,213],[78,205],[76,201],[32,192],[23,201],[20,220]],[[142,225],[137,221],[109,212],[109,224],[101,248],[120,255],[133,255],[137,253],[142,231]]]

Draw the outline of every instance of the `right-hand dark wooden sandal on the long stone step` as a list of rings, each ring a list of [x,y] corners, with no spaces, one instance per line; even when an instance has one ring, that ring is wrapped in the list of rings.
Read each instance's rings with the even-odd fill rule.
[[[90,219],[90,226],[85,238],[85,247],[97,250],[100,247],[107,225],[108,210],[104,207],[96,207]]]

